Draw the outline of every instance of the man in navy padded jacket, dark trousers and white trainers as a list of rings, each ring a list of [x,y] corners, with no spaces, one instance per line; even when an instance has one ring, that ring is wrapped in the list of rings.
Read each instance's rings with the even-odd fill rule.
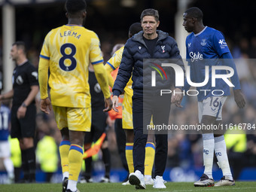
[[[145,189],[144,162],[145,145],[147,142],[147,125],[153,117],[154,125],[168,125],[171,102],[180,106],[181,89],[174,87],[174,72],[171,68],[162,68],[160,63],[172,59],[184,70],[184,64],[179,54],[178,46],[173,38],[166,32],[157,30],[159,14],[154,9],[146,9],[141,15],[142,32],[130,38],[124,47],[120,68],[113,87],[113,108],[117,111],[118,96],[123,92],[131,75],[133,74],[133,165],[134,171],[129,176],[130,184],[137,189]],[[146,60],[144,60],[146,59]],[[154,59],[154,60],[153,60]],[[161,60],[159,60],[161,59]],[[153,62],[152,62],[153,61]],[[169,60],[168,60],[169,61]],[[152,69],[157,69],[165,75],[155,75],[156,85],[151,84]],[[167,75],[166,75],[167,74]],[[160,78],[161,76],[161,78]],[[181,77],[184,78],[184,77]],[[173,94],[160,94],[161,90],[172,90]],[[144,134],[145,133],[145,134]],[[162,133],[162,134],[161,134]],[[167,132],[155,135],[155,180],[154,188],[166,188],[163,181],[163,172],[167,159]]]

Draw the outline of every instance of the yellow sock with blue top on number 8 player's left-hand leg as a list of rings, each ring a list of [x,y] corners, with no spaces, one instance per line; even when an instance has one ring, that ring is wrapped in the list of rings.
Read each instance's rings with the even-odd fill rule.
[[[61,160],[62,173],[69,172],[69,148],[70,142],[63,140],[59,144],[59,156]]]

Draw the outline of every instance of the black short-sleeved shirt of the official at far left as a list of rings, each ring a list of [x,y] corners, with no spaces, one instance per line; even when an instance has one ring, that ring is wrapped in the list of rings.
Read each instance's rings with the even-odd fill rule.
[[[14,69],[13,77],[13,105],[21,105],[29,96],[31,86],[38,85],[38,70],[27,61]],[[32,104],[35,100],[32,101]]]

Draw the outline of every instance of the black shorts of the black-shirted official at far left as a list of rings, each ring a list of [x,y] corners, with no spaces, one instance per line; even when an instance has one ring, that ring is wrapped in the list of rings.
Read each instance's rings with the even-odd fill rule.
[[[26,115],[23,118],[17,118],[17,110],[20,106],[11,108],[11,138],[35,137],[35,105],[29,105],[26,108]]]

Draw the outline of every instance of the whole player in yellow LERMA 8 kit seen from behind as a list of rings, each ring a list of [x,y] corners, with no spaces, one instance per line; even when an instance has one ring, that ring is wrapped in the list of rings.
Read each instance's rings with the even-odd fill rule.
[[[41,111],[49,114],[48,110],[53,106],[55,120],[62,134],[62,142],[59,144],[62,191],[78,191],[84,134],[90,131],[91,126],[88,84],[90,62],[108,105],[104,111],[109,111],[112,107],[99,38],[82,26],[87,16],[86,9],[85,0],[66,0],[68,24],[52,29],[47,34],[39,60]],[[48,83],[50,99],[47,93]]]

